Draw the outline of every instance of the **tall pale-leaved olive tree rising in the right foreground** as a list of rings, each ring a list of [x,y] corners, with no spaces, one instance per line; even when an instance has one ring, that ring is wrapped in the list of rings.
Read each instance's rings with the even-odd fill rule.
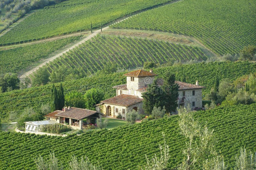
[[[214,147],[216,141],[213,138],[213,130],[208,130],[207,126],[202,127],[194,119],[193,112],[185,108],[179,109],[178,113],[181,134],[189,139],[184,149],[186,156],[179,169],[208,169],[208,167],[211,169],[216,166],[214,165],[216,160],[221,157],[218,156]],[[219,163],[224,165],[223,159]],[[223,167],[223,169],[226,168]]]

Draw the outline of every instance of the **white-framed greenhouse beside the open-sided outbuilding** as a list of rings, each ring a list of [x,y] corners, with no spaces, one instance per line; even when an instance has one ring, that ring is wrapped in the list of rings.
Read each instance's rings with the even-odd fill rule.
[[[41,120],[41,121],[24,122],[24,123],[26,123],[26,126],[25,126],[26,132],[38,132],[38,131],[41,131],[41,125],[56,124],[57,122],[54,120]]]

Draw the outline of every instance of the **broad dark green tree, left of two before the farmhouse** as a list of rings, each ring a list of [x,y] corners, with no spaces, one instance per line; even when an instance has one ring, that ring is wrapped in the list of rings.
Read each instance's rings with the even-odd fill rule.
[[[156,81],[148,85],[147,91],[142,94],[142,97],[144,99],[142,108],[146,114],[151,114],[154,106],[164,107],[162,102],[164,99],[163,90],[156,84]]]

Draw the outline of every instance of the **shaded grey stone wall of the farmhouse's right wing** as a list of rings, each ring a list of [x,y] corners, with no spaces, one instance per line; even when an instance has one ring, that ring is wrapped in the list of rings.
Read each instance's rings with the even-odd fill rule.
[[[195,96],[193,96],[193,90],[195,90]],[[179,100],[181,101],[183,97],[183,91],[185,91],[185,107],[190,104],[191,109],[195,107],[202,107],[202,89],[188,89],[188,90],[179,90]],[[192,106],[193,102],[195,102],[195,106]]]

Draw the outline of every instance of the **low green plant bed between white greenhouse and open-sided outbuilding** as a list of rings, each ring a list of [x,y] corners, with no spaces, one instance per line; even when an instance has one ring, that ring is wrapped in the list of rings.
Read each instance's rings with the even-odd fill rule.
[[[46,124],[41,126],[43,132],[47,133],[63,133],[67,131],[71,131],[71,127],[64,124]]]

